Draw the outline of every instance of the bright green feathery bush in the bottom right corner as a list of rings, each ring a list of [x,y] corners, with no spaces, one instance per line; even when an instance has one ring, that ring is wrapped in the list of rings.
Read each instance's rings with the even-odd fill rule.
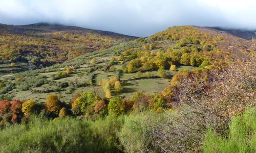
[[[203,142],[204,152],[256,152],[256,112],[247,110],[232,119],[228,138],[209,130]]]

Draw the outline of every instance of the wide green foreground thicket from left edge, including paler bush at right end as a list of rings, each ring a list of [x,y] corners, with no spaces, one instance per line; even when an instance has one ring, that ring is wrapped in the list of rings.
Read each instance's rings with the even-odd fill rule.
[[[28,124],[0,130],[0,152],[154,152],[143,121],[162,115],[109,115],[95,121],[32,116]]]

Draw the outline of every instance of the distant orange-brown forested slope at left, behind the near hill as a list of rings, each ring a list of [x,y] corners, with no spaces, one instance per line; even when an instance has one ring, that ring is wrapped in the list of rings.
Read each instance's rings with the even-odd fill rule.
[[[60,24],[0,24],[0,61],[27,61],[29,54],[34,65],[52,65],[135,38]]]

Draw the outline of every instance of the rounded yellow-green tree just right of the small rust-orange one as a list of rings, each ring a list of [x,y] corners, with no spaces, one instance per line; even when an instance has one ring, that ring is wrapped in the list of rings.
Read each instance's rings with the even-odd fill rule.
[[[122,114],[124,112],[125,105],[121,97],[113,97],[110,99],[108,105],[109,113]]]

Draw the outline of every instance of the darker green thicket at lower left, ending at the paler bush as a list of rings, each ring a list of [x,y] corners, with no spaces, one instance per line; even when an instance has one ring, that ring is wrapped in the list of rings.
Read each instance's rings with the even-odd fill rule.
[[[0,131],[0,152],[118,152],[115,131],[122,125],[122,118],[108,116],[92,122],[32,117],[27,125]]]

